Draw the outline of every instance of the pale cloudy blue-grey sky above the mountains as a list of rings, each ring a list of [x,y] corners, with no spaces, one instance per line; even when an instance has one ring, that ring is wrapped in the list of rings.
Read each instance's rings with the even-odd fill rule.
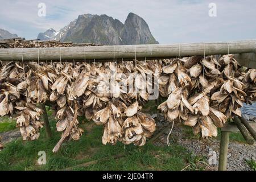
[[[46,5],[46,16],[38,16],[39,3]],[[26,39],[49,28],[58,31],[81,14],[106,14],[124,23],[130,12],[146,20],[161,44],[256,39],[255,0],[0,0],[0,5],[0,28]]]

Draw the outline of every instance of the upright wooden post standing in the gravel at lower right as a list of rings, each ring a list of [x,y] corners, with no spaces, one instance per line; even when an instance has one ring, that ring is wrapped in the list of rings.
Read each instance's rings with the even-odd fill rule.
[[[218,160],[218,171],[226,171],[229,147],[229,131],[221,131],[220,156]]]

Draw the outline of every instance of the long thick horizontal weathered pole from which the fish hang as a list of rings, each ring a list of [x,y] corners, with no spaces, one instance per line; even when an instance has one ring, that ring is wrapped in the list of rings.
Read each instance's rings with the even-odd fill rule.
[[[94,60],[107,61],[115,59],[162,59],[175,56],[221,55],[229,53],[255,52],[255,40],[216,43],[183,44],[140,44],[126,46],[98,47],[51,47],[51,48],[13,48],[0,49],[2,61],[65,61]]]

